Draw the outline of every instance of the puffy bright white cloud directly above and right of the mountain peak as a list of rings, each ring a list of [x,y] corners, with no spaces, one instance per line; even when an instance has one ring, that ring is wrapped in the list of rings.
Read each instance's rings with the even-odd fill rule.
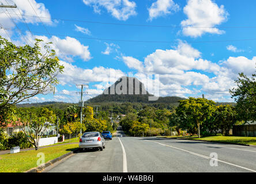
[[[133,57],[123,57],[123,61],[129,68],[134,68],[146,73],[156,74],[183,74],[188,70],[218,71],[219,66],[198,57],[201,53],[187,43],[180,42],[176,49],[157,49],[146,56],[144,63]]]

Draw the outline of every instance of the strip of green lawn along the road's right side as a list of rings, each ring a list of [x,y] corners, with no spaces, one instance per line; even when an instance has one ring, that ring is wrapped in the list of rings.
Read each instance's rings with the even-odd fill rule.
[[[210,137],[189,138],[189,139],[214,141],[214,142],[218,142],[218,143],[256,145],[256,137],[210,136]]]

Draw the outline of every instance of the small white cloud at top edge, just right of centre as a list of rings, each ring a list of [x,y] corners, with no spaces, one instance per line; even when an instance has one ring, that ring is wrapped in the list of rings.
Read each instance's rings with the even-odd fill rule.
[[[164,16],[166,14],[171,14],[172,12],[176,12],[179,10],[179,5],[174,3],[172,0],[157,0],[153,2],[149,11],[149,20],[153,18],[157,18],[160,16]]]

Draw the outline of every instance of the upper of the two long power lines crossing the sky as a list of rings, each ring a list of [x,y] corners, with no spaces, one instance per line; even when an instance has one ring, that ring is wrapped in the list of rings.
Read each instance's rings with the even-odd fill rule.
[[[24,15],[24,16],[25,17],[39,17],[39,16],[29,16],[29,15]],[[85,22],[85,23],[92,23],[92,24],[157,27],[157,28],[256,28],[256,26],[178,26],[178,25],[122,24],[122,23],[112,23],[112,22],[76,20],[76,19],[67,19],[67,18],[53,18],[53,17],[39,17],[39,18],[47,18],[47,19],[71,21],[71,22]]]

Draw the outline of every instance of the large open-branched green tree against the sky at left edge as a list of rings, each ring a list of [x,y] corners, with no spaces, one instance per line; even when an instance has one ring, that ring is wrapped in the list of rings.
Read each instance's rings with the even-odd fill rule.
[[[33,47],[17,47],[0,36],[0,128],[6,126],[13,105],[46,91],[54,91],[63,66],[49,44],[44,53],[36,39]],[[11,116],[12,117],[12,116]]]

